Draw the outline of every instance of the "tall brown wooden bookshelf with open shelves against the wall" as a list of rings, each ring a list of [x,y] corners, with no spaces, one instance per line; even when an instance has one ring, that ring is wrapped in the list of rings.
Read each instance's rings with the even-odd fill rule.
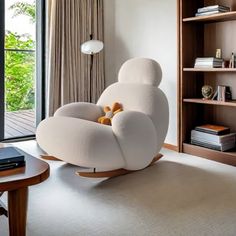
[[[231,12],[195,17],[197,9],[225,5]],[[190,144],[191,130],[198,125],[216,124],[236,132],[236,101],[203,100],[201,88],[210,85],[231,87],[236,100],[236,68],[194,68],[197,57],[214,57],[221,48],[222,57],[236,53],[236,0],[179,0],[179,151],[236,166],[236,148],[215,151]]]

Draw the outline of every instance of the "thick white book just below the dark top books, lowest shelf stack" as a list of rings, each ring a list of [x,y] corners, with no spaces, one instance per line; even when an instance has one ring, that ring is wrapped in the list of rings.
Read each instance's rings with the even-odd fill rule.
[[[212,142],[214,144],[224,144],[228,142],[236,142],[236,133],[224,134],[224,135],[216,135],[209,134],[206,132],[201,132],[197,130],[191,131],[191,139],[196,140],[204,140],[206,142]]]

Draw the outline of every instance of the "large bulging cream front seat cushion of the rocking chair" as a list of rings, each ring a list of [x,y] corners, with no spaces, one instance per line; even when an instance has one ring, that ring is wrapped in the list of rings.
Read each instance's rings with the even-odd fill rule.
[[[36,140],[45,152],[73,165],[114,170],[124,158],[111,126],[71,117],[49,117],[40,122]]]

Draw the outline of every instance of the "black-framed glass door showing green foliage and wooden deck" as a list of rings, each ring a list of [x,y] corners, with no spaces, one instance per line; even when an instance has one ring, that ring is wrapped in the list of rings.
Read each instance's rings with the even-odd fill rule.
[[[4,11],[4,66],[1,66],[1,139],[35,135],[42,118],[42,4],[36,0],[1,1]],[[40,30],[40,32],[38,32]],[[3,48],[4,47],[4,48]],[[3,56],[1,55],[1,59]]]

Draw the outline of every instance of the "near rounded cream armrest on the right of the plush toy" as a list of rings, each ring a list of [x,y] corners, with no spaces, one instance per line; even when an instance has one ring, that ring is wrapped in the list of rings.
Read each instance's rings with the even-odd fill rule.
[[[144,113],[123,111],[112,119],[112,130],[125,158],[128,170],[150,164],[157,155],[157,134],[152,120]]]

